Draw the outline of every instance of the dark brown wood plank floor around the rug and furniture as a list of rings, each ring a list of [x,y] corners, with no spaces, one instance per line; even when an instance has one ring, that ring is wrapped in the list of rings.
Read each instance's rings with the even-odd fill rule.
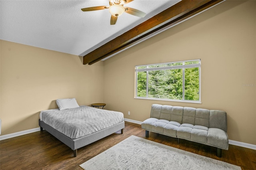
[[[145,131],[135,123],[125,122],[124,134],[116,132],[106,138],[73,151],[46,130],[0,141],[1,170],[82,170],[80,164],[114,146],[129,136],[145,138]],[[242,170],[256,170],[256,150],[230,145],[222,150],[222,158],[216,156],[216,148],[149,132],[148,140],[238,165]],[[102,162],[99,162],[102,163]]]

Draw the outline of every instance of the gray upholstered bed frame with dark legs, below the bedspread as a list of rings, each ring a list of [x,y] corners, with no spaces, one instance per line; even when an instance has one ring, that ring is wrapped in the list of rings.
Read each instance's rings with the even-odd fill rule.
[[[66,144],[68,147],[70,147],[74,151],[74,157],[77,156],[77,149],[82,148],[83,146],[86,146],[92,142],[95,142],[97,140],[100,140],[110,134],[113,134],[114,132],[117,132],[118,130],[121,130],[121,134],[123,134],[124,130],[124,121],[121,123],[118,123],[114,126],[105,128],[103,130],[100,130],[98,132],[88,134],[86,136],[71,139],[68,136],[64,135],[63,133],[59,132],[58,130],[52,128],[51,126],[47,125],[43,121],[39,119],[39,126],[40,131],[43,130],[43,128],[52,134],[54,137],[56,137],[58,140]]]

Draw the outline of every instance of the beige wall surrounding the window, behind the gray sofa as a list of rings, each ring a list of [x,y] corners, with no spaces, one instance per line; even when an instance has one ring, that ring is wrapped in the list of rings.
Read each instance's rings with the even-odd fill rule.
[[[256,144],[256,2],[225,1],[104,61],[106,109],[144,121],[153,103],[224,110],[230,140]],[[135,65],[201,59],[202,104],[134,99]],[[130,115],[128,115],[130,111]]]

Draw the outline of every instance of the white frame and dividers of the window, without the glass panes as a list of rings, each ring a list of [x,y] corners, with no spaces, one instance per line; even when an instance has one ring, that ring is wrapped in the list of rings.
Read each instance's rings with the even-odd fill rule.
[[[188,64],[185,65],[185,62],[190,61],[198,61],[196,64]],[[149,66],[153,65],[166,65],[166,64],[175,64],[175,63],[182,63],[182,65],[174,65],[174,66],[165,66],[165,67],[152,67]],[[139,67],[146,67],[146,68],[139,68]],[[192,100],[185,100],[184,99],[184,91],[185,91],[185,69],[186,68],[194,68],[198,67],[199,69],[199,100],[192,101]],[[177,99],[158,99],[158,98],[149,98],[148,97],[148,71],[156,71],[156,70],[167,70],[167,69],[182,69],[182,100]],[[138,97],[137,96],[137,89],[138,89],[138,72],[146,71],[147,72],[147,84],[146,84],[146,97]],[[168,62],[168,63],[156,63],[156,64],[148,64],[148,65],[136,65],[135,66],[135,99],[150,99],[150,100],[161,100],[161,101],[178,101],[178,102],[188,102],[188,103],[201,103],[201,59],[193,59],[193,60],[185,60],[185,61],[175,61],[175,62]]]

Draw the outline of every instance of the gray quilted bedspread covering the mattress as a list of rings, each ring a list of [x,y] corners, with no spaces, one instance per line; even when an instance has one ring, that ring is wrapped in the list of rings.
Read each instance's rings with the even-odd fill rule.
[[[88,106],[61,111],[47,110],[42,111],[41,114],[41,121],[71,139],[92,134],[124,121],[124,115],[121,112]]]

